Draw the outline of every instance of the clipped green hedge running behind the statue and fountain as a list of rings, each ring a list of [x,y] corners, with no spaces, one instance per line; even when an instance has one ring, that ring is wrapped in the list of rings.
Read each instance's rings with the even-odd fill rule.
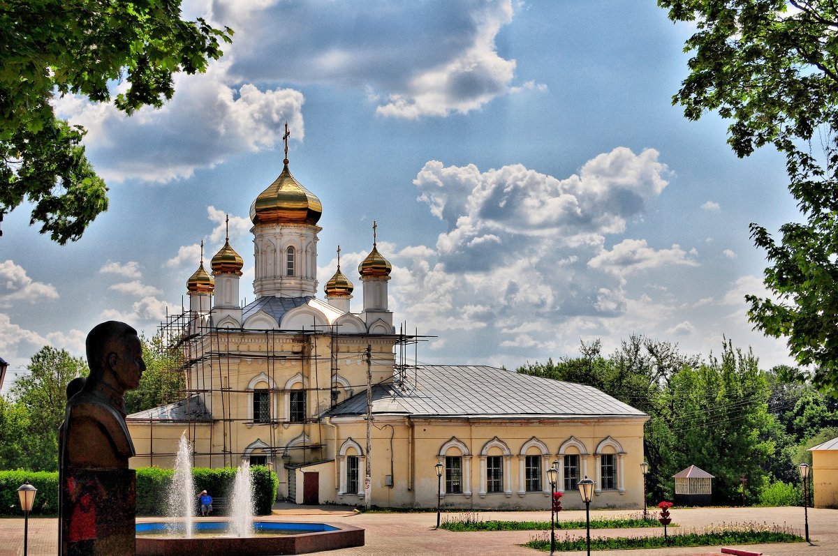
[[[137,469],[137,515],[162,516],[166,509],[168,483],[173,470],[159,467]],[[235,469],[223,467],[192,470],[195,492],[205,490],[213,497],[230,498]],[[251,467],[254,502],[257,515],[271,513],[277,498],[279,479],[264,466]],[[54,516],[58,513],[58,473],[48,471],[0,471],[0,516],[20,516],[18,486],[29,481],[38,489],[32,515]],[[229,507],[229,505],[228,505]]]

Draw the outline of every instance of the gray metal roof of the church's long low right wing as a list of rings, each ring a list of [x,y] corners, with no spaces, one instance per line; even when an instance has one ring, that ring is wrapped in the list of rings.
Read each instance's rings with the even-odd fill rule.
[[[592,386],[483,365],[425,365],[416,369],[416,384],[405,389],[377,384],[372,399],[374,414],[416,417],[646,416]],[[329,412],[334,416],[365,413],[365,389]]]

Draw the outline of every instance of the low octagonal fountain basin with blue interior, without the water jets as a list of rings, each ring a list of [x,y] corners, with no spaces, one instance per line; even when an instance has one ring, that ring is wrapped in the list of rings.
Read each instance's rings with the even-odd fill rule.
[[[199,521],[194,530],[223,534],[226,521]],[[172,536],[145,537],[143,533],[169,531],[169,523],[137,523],[137,556],[270,556],[303,554],[336,548],[364,546],[364,529],[344,523],[293,523],[254,521],[253,537],[199,535],[193,538]],[[271,534],[274,533],[274,534]]]

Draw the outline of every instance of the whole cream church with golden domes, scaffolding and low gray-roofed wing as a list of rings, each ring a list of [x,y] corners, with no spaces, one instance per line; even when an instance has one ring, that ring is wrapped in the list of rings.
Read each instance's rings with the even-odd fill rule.
[[[643,507],[647,414],[580,384],[411,363],[419,337],[393,325],[375,224],[360,302],[339,247],[319,298],[323,205],[292,176],[287,142],[285,154],[251,204],[256,299],[241,306],[229,237],[209,270],[202,251],[188,310],[161,327],[186,391],[128,416],[132,467],[173,466],[185,432],[194,466],[268,466],[277,497],[301,504],[435,507],[439,494],[442,507],[544,509],[555,466],[564,507],[584,507],[585,476],[592,507]]]

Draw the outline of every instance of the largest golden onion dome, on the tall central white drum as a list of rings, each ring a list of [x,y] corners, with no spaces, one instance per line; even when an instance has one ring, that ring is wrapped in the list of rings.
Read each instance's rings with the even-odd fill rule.
[[[253,224],[317,224],[323,214],[314,193],[304,188],[288,171],[288,159],[285,167],[274,183],[259,193],[251,204],[251,222]]]

